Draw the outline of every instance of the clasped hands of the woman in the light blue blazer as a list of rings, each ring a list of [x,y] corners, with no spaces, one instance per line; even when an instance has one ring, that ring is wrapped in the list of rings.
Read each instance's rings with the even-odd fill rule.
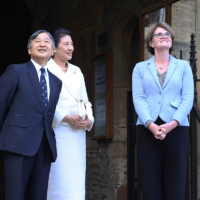
[[[151,123],[148,129],[154,134],[154,137],[159,140],[165,139],[166,135],[178,126],[178,122],[173,120],[169,123],[162,124],[160,126]]]

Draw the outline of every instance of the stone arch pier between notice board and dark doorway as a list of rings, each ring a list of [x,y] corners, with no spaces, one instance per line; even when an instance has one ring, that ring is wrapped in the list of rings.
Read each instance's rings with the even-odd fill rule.
[[[116,199],[127,199],[127,91],[131,89],[131,51],[133,38],[139,35],[135,35],[135,31],[139,32],[139,13],[134,3],[127,2],[113,26],[113,135],[117,139],[109,148],[115,146],[117,151],[124,152],[110,159],[110,171],[116,177]]]

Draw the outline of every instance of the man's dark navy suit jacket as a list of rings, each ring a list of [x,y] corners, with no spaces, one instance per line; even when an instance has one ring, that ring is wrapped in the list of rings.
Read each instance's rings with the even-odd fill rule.
[[[52,121],[62,87],[49,74],[50,97],[46,111],[38,74],[31,61],[10,65],[0,77],[0,149],[33,156],[39,149],[43,133],[56,160],[56,140]]]

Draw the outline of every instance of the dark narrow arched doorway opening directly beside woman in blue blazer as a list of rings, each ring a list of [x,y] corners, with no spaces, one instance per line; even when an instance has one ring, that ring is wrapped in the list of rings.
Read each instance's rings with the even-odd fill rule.
[[[139,18],[133,15],[123,29],[124,59],[127,61],[129,87],[127,91],[127,188],[128,199],[139,197],[139,173],[137,167],[136,120],[137,115],[132,100],[132,72],[140,61]],[[126,45],[125,45],[126,44]]]

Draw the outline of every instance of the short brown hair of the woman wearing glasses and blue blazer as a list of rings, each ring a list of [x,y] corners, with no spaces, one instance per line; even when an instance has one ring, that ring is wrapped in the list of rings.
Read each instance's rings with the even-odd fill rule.
[[[147,35],[147,39],[146,39],[146,45],[147,45],[147,50],[154,55],[154,48],[150,46],[150,42],[153,39],[153,35],[155,30],[160,27],[160,28],[164,28],[166,31],[168,31],[171,34],[171,38],[172,38],[172,46],[169,49],[169,52],[173,51],[173,41],[174,41],[174,31],[172,30],[171,26],[165,22],[158,22],[155,24],[152,24],[152,26],[150,27],[149,33]]]

